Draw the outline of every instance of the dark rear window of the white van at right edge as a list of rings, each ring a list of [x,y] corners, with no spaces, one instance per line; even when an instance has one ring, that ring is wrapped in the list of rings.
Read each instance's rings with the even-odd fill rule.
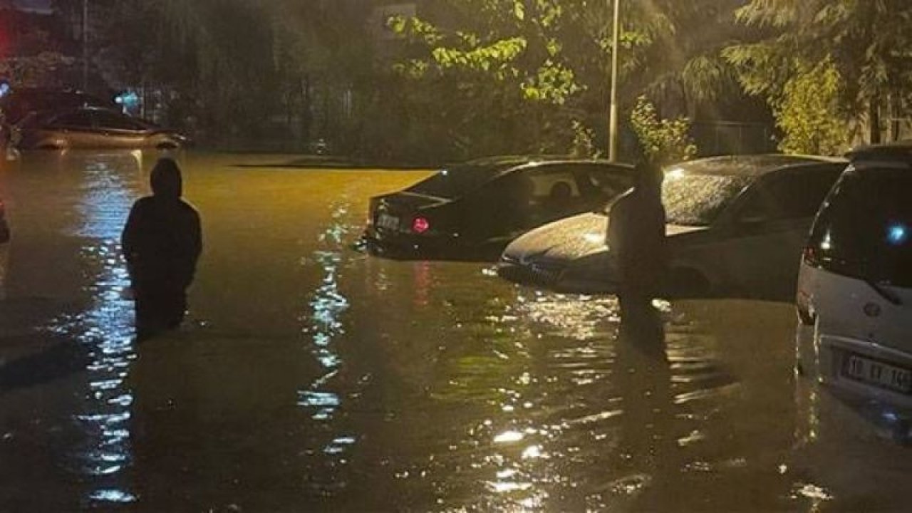
[[[850,168],[824,202],[810,247],[824,268],[912,287],[912,171]]]

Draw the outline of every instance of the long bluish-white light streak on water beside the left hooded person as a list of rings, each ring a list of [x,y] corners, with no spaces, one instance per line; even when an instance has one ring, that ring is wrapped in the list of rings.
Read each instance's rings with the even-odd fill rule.
[[[84,412],[75,415],[88,438],[77,460],[88,480],[88,499],[101,503],[133,502],[136,497],[124,471],[131,463],[130,406],[132,393],[125,386],[133,347],[132,303],[123,298],[129,286],[120,259],[119,236],[130,212],[141,154],[128,152],[75,160],[84,169],[82,194],[77,205],[78,225],[70,234],[83,238],[80,258],[88,269],[84,288],[89,307],[77,316],[59,319],[52,329],[74,337],[88,348],[88,391]],[[107,158],[106,158],[107,157]],[[123,162],[129,162],[124,165]],[[77,164],[78,165],[78,164]],[[94,273],[91,274],[91,273]]]

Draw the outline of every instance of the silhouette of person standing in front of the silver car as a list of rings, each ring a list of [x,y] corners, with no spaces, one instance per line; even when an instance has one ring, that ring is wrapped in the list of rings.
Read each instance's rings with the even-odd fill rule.
[[[611,204],[607,243],[620,278],[621,317],[637,315],[658,295],[667,267],[661,168],[637,166],[634,187]]]

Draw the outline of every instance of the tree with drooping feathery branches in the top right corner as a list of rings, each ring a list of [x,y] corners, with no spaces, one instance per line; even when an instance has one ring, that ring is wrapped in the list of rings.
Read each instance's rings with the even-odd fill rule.
[[[912,4],[906,0],[752,0],[738,11],[758,40],[730,47],[726,57],[741,83],[772,105],[808,69],[832,68],[842,78],[839,115],[863,118],[868,139],[881,140],[882,111],[891,100],[907,110],[912,84]]]

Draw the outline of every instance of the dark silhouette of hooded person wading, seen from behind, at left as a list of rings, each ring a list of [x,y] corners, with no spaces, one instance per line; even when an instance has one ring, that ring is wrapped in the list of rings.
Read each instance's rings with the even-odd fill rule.
[[[150,176],[152,195],[137,200],[121,236],[136,309],[138,339],[177,328],[202,252],[200,215],[181,200],[181,169],[163,158]]]

